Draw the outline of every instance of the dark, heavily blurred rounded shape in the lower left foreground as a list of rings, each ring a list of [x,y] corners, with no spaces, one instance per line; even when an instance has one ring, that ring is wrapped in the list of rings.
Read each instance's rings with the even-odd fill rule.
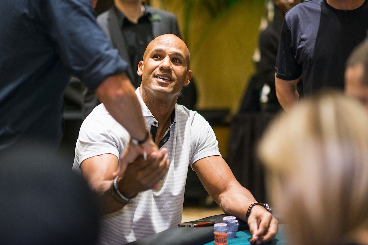
[[[1,245],[93,245],[100,210],[86,181],[44,142],[0,154]]]

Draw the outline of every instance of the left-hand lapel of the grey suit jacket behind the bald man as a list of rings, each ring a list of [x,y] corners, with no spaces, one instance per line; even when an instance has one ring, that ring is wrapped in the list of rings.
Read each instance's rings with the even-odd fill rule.
[[[111,35],[111,42],[114,48],[117,48],[119,50],[121,57],[123,57],[123,59],[129,63],[127,45],[125,43],[123,33],[121,32],[121,26],[119,26],[116,12],[113,9],[109,11],[109,17],[107,21],[108,21],[109,32]],[[127,73],[128,73],[127,74],[128,77],[132,79],[133,71],[130,66],[127,70]]]

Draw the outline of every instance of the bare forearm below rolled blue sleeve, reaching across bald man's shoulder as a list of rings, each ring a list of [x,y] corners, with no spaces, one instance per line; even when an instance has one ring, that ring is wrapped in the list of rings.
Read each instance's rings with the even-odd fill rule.
[[[146,124],[141,105],[130,80],[120,73],[107,77],[96,89],[96,94],[110,115],[120,123],[132,138],[146,136]]]

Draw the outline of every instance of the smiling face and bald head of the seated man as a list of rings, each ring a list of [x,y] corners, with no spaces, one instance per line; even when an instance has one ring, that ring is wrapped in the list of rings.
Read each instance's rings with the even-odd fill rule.
[[[142,75],[141,86],[151,92],[178,95],[190,82],[189,51],[183,40],[172,34],[156,37],[138,64],[138,75]]]

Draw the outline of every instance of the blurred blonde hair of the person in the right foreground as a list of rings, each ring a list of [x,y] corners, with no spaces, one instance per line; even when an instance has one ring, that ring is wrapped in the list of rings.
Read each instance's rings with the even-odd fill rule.
[[[258,147],[291,244],[328,245],[368,227],[368,115],[323,93],[300,101]]]

